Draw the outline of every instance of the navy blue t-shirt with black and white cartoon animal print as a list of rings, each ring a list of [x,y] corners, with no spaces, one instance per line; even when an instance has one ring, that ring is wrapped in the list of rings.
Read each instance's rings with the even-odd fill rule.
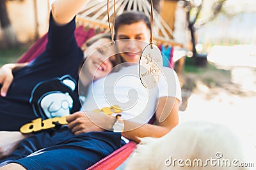
[[[0,97],[0,131],[19,131],[37,117],[61,117],[81,106],[77,80],[83,52],[74,36],[75,18],[60,26],[51,16],[49,25],[45,52],[17,71],[7,96]]]

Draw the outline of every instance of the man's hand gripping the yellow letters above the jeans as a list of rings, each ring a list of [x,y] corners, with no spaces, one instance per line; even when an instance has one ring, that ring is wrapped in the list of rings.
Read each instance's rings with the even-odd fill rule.
[[[66,118],[68,128],[75,135],[83,134],[85,132],[103,131],[102,128],[93,124],[93,122],[86,116],[83,111],[77,111]]]

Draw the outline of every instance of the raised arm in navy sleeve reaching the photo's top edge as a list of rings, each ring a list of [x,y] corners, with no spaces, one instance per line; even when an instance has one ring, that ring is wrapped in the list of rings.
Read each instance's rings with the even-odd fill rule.
[[[60,60],[63,57],[68,57],[68,53],[80,51],[74,34],[76,29],[75,17],[88,1],[56,0],[52,3],[48,41],[45,49],[45,52],[52,55],[52,59]],[[81,56],[76,56],[76,60],[70,60],[70,62],[80,62]]]

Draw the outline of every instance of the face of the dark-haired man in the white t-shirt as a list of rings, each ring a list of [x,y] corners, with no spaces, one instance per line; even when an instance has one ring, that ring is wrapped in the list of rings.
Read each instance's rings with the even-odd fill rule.
[[[120,55],[126,62],[139,62],[143,49],[149,43],[149,37],[150,30],[143,21],[120,25],[116,30],[116,40],[122,40],[118,41]]]

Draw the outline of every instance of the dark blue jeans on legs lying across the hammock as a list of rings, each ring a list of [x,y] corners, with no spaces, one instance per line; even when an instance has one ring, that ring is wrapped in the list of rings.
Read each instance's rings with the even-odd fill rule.
[[[0,160],[26,169],[86,169],[124,145],[121,133],[88,132],[75,136],[67,127],[24,139],[17,150]]]

